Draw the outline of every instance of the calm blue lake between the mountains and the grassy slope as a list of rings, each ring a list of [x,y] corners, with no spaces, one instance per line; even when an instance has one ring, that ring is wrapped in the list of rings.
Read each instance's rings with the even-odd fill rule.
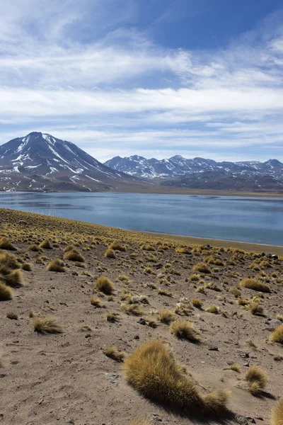
[[[276,198],[1,192],[0,208],[121,229],[283,246],[283,199]]]

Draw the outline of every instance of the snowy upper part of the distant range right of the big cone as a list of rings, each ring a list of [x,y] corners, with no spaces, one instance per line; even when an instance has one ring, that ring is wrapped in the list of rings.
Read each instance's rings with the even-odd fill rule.
[[[248,175],[268,175],[282,179],[283,164],[277,159],[269,159],[267,162],[216,162],[213,159],[194,158],[186,159],[175,155],[169,159],[146,159],[144,157],[114,157],[105,162],[117,171],[123,171],[132,176],[141,178],[168,179],[171,177],[189,176],[204,171],[220,171],[224,173],[239,173]]]

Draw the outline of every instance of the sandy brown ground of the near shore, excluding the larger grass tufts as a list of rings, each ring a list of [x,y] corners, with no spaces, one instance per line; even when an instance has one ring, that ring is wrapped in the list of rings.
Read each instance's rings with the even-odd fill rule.
[[[219,417],[216,423],[270,424],[272,406],[283,395],[283,346],[270,341],[283,315],[283,257],[262,257],[246,251],[245,244],[220,248],[219,242],[217,246],[211,242],[208,247],[178,237],[11,210],[0,210],[0,218],[0,238],[16,247],[16,251],[3,249],[0,255],[13,254],[20,267],[31,264],[31,271],[22,271],[22,286],[13,288],[13,298],[0,302],[1,424],[124,425],[133,419],[164,425],[196,423],[190,412],[171,411],[142,397],[127,383],[123,363],[104,353],[115,346],[126,353],[127,361],[152,339],[168,344],[202,394],[231,391],[227,405],[231,417],[228,421]],[[28,249],[46,238],[52,249]],[[119,250],[113,248],[115,258],[106,258],[112,242],[118,242]],[[84,261],[64,259],[69,245]],[[258,252],[265,249],[257,246]],[[56,258],[64,262],[64,273],[47,270]],[[210,273],[193,271],[197,263],[205,263]],[[96,290],[101,276],[114,285],[110,297]],[[265,283],[270,292],[241,286],[248,277]],[[91,304],[93,295],[100,305]],[[200,300],[201,307],[194,307],[193,299]],[[253,314],[252,302],[263,312]],[[123,310],[132,304],[138,304],[139,315]],[[217,314],[205,311],[212,305]],[[162,310],[194,324],[200,343],[176,338],[170,324],[158,319]],[[18,319],[6,317],[9,312]],[[109,322],[109,313],[119,314],[119,320]],[[36,332],[35,317],[56,318],[62,334]],[[240,372],[229,368],[235,364]],[[249,392],[245,378],[254,364],[268,378],[258,396]],[[200,416],[200,421],[209,423],[209,418]]]

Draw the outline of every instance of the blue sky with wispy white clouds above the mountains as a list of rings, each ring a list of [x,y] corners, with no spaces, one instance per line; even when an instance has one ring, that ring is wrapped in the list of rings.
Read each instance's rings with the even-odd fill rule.
[[[1,0],[0,145],[283,161],[282,0]]]

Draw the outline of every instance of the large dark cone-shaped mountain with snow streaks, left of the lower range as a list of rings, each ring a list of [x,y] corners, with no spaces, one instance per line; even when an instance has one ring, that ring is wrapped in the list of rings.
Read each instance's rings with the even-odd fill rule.
[[[144,185],[137,177],[101,164],[73,143],[42,132],[0,146],[1,190],[101,191]]]

